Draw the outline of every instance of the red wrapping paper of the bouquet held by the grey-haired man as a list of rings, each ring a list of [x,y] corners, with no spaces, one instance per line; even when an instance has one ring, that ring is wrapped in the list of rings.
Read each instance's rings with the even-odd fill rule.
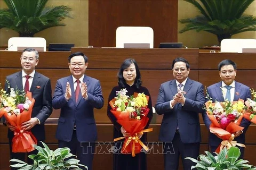
[[[28,111],[23,111],[19,115],[8,115],[7,112],[4,113],[6,121],[11,125],[16,126],[14,137],[12,139],[12,152],[30,152],[35,150],[33,145],[37,145],[37,140],[31,131],[23,131],[21,129],[21,124],[30,120],[33,106],[35,104],[35,99],[32,99],[31,92],[28,91],[26,96],[31,101]]]

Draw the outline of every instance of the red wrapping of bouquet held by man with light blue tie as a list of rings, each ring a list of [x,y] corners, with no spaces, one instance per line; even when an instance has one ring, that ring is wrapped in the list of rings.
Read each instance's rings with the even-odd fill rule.
[[[239,99],[240,101],[244,101],[242,99]],[[236,103],[237,101],[233,101],[233,103]],[[205,103],[206,108],[209,108],[211,102],[207,101]],[[212,103],[214,106],[214,103]],[[207,112],[206,112],[207,113]],[[245,147],[242,143],[237,143],[234,140],[234,133],[237,131],[241,131],[244,128],[242,126],[239,126],[241,124],[241,121],[243,119],[243,115],[239,116],[238,120],[236,122],[230,122],[226,129],[222,129],[221,125],[219,122],[216,120],[214,115],[210,115],[207,113],[208,117],[211,120],[211,125],[210,125],[210,132],[217,135],[218,138],[222,139],[223,141],[220,143],[219,147],[215,150],[219,154],[219,152],[223,149],[223,147],[227,147],[229,149],[231,146],[241,146]]]

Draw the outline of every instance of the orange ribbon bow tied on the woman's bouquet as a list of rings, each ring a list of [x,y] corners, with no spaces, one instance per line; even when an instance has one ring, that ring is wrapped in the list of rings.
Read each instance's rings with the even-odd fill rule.
[[[139,139],[138,135],[143,135],[143,133],[146,133],[146,132],[151,132],[153,131],[153,128],[149,128],[149,129],[144,129],[138,133],[135,133],[134,135],[131,135],[131,137],[120,137],[120,138],[115,138],[114,139],[114,142],[115,141],[118,141],[118,140],[121,140],[121,139],[125,139],[125,146],[123,146],[122,148],[122,151],[121,152],[124,152],[126,147],[132,143],[132,157],[135,157],[135,143],[139,143],[140,146],[142,146],[143,149],[145,149],[146,151],[148,151],[148,147],[146,145],[144,145],[144,143]]]

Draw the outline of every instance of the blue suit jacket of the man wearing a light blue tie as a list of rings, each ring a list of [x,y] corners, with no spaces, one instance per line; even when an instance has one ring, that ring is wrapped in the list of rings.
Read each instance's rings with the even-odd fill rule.
[[[221,90],[221,86],[222,86],[221,83],[222,81],[212,84],[207,88],[207,93],[209,94],[209,96],[212,98],[213,101],[224,101],[222,90]],[[242,83],[235,81],[234,101],[237,101],[238,99],[243,99],[244,101],[246,101],[247,98],[251,98],[250,88],[245,86]],[[202,115],[203,115],[204,124],[206,125],[207,129],[209,129],[211,125],[211,121],[205,112]],[[236,140],[238,143],[245,143],[245,132],[248,129],[250,124],[251,124],[250,121],[247,121],[245,118],[243,118],[240,126],[244,127],[244,130],[243,130],[244,133],[239,135],[234,140]],[[222,140],[219,139],[215,134],[210,133],[209,144],[211,146],[219,146],[221,141]]]

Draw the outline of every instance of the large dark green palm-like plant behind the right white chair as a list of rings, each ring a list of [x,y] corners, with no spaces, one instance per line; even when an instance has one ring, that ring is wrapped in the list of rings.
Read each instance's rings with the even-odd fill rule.
[[[245,32],[256,31],[256,17],[244,14],[244,11],[254,0],[184,0],[193,4],[202,14],[195,18],[180,20],[186,24],[179,33],[189,30],[207,31],[218,37],[219,45],[222,39]]]

